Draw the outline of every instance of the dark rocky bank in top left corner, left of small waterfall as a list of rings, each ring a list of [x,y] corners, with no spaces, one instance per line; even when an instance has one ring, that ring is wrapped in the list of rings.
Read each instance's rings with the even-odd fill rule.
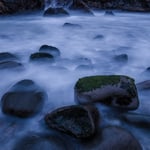
[[[20,13],[44,8],[44,0],[1,0],[0,15]]]

